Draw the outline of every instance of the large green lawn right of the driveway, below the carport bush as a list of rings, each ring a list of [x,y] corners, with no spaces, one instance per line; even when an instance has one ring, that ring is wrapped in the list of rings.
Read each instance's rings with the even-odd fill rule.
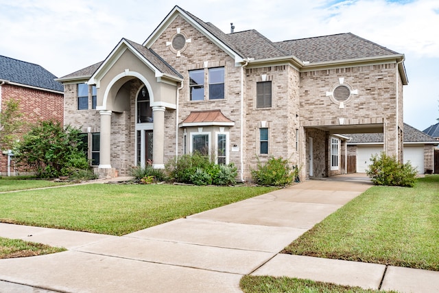
[[[371,187],[285,253],[439,270],[439,175],[416,186]]]

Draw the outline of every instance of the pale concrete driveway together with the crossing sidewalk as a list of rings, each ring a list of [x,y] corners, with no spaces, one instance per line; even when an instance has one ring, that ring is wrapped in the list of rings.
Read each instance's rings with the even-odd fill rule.
[[[439,292],[439,272],[279,254],[370,186],[309,180],[122,237],[0,223],[1,237],[68,249],[0,259],[0,292],[240,292],[246,274]]]

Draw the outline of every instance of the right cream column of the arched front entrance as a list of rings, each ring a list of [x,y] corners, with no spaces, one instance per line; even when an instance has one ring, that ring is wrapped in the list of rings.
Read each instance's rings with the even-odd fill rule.
[[[154,169],[164,169],[165,152],[165,107],[153,106],[154,124],[152,126],[152,167]]]

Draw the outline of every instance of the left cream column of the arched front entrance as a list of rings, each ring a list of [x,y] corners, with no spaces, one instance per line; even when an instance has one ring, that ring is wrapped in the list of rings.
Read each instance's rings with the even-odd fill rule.
[[[110,174],[110,145],[111,145],[111,111],[100,110],[101,132],[99,145],[99,174]],[[107,169],[107,170],[104,170]],[[108,170],[110,169],[110,170]]]

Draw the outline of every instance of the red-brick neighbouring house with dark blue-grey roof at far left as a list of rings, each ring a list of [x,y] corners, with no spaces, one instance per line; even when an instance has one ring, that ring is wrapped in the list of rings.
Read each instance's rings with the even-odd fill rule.
[[[63,123],[64,88],[40,65],[0,56],[0,111],[10,100],[19,102],[23,121],[54,119]],[[1,150],[0,174],[8,172],[8,150]],[[12,172],[12,169],[9,168]]]

